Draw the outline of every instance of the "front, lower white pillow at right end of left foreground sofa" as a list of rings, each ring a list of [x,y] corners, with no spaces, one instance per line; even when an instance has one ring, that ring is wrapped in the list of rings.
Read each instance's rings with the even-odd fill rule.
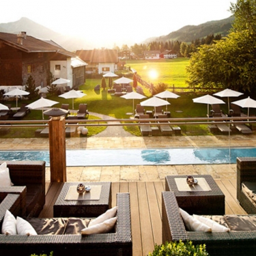
[[[117,221],[117,217],[109,218],[108,220],[95,224],[91,227],[86,227],[85,229],[81,230],[82,235],[91,235],[93,233],[108,233],[113,229],[115,223]]]

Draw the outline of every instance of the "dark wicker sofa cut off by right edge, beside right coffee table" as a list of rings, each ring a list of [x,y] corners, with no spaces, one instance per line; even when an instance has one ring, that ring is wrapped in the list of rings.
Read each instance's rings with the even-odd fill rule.
[[[248,195],[242,191],[242,183],[243,182],[255,182],[256,184],[256,158],[252,157],[244,157],[244,158],[237,158],[236,160],[237,166],[237,199],[246,210],[248,214],[256,214],[256,206],[250,200]]]

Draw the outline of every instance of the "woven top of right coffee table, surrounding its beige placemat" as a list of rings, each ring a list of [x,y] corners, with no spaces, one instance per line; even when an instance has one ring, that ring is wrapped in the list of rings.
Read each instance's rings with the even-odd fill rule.
[[[193,175],[195,179],[198,179],[200,177],[205,178],[206,182],[210,186],[211,190],[209,191],[180,191],[177,188],[177,184],[175,182],[175,178],[186,178],[187,175],[169,175],[165,177],[165,190],[173,191],[175,193],[176,197],[182,196],[182,197],[191,197],[191,196],[224,196],[221,189],[218,187],[216,182],[214,181],[213,177],[211,175]]]

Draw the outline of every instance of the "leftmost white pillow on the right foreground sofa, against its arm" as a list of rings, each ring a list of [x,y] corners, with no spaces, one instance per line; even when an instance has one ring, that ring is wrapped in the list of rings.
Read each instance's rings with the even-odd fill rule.
[[[182,216],[182,219],[188,231],[203,231],[203,232],[212,231],[212,229],[208,225],[201,223],[201,221],[197,221],[196,218],[193,218],[193,216],[191,216],[181,208],[180,208],[180,215]]]

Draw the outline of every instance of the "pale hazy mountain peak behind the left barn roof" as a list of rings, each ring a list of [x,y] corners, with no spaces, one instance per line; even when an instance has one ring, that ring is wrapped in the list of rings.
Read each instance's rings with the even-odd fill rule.
[[[53,40],[68,51],[76,51],[77,49],[83,48],[94,48],[93,44],[87,42],[85,39],[62,35],[61,33],[57,33],[33,22],[32,20],[29,20],[29,18],[20,18],[20,20],[12,23],[0,24],[0,32],[19,33],[20,31],[26,31],[27,35],[31,35],[34,38]]]

